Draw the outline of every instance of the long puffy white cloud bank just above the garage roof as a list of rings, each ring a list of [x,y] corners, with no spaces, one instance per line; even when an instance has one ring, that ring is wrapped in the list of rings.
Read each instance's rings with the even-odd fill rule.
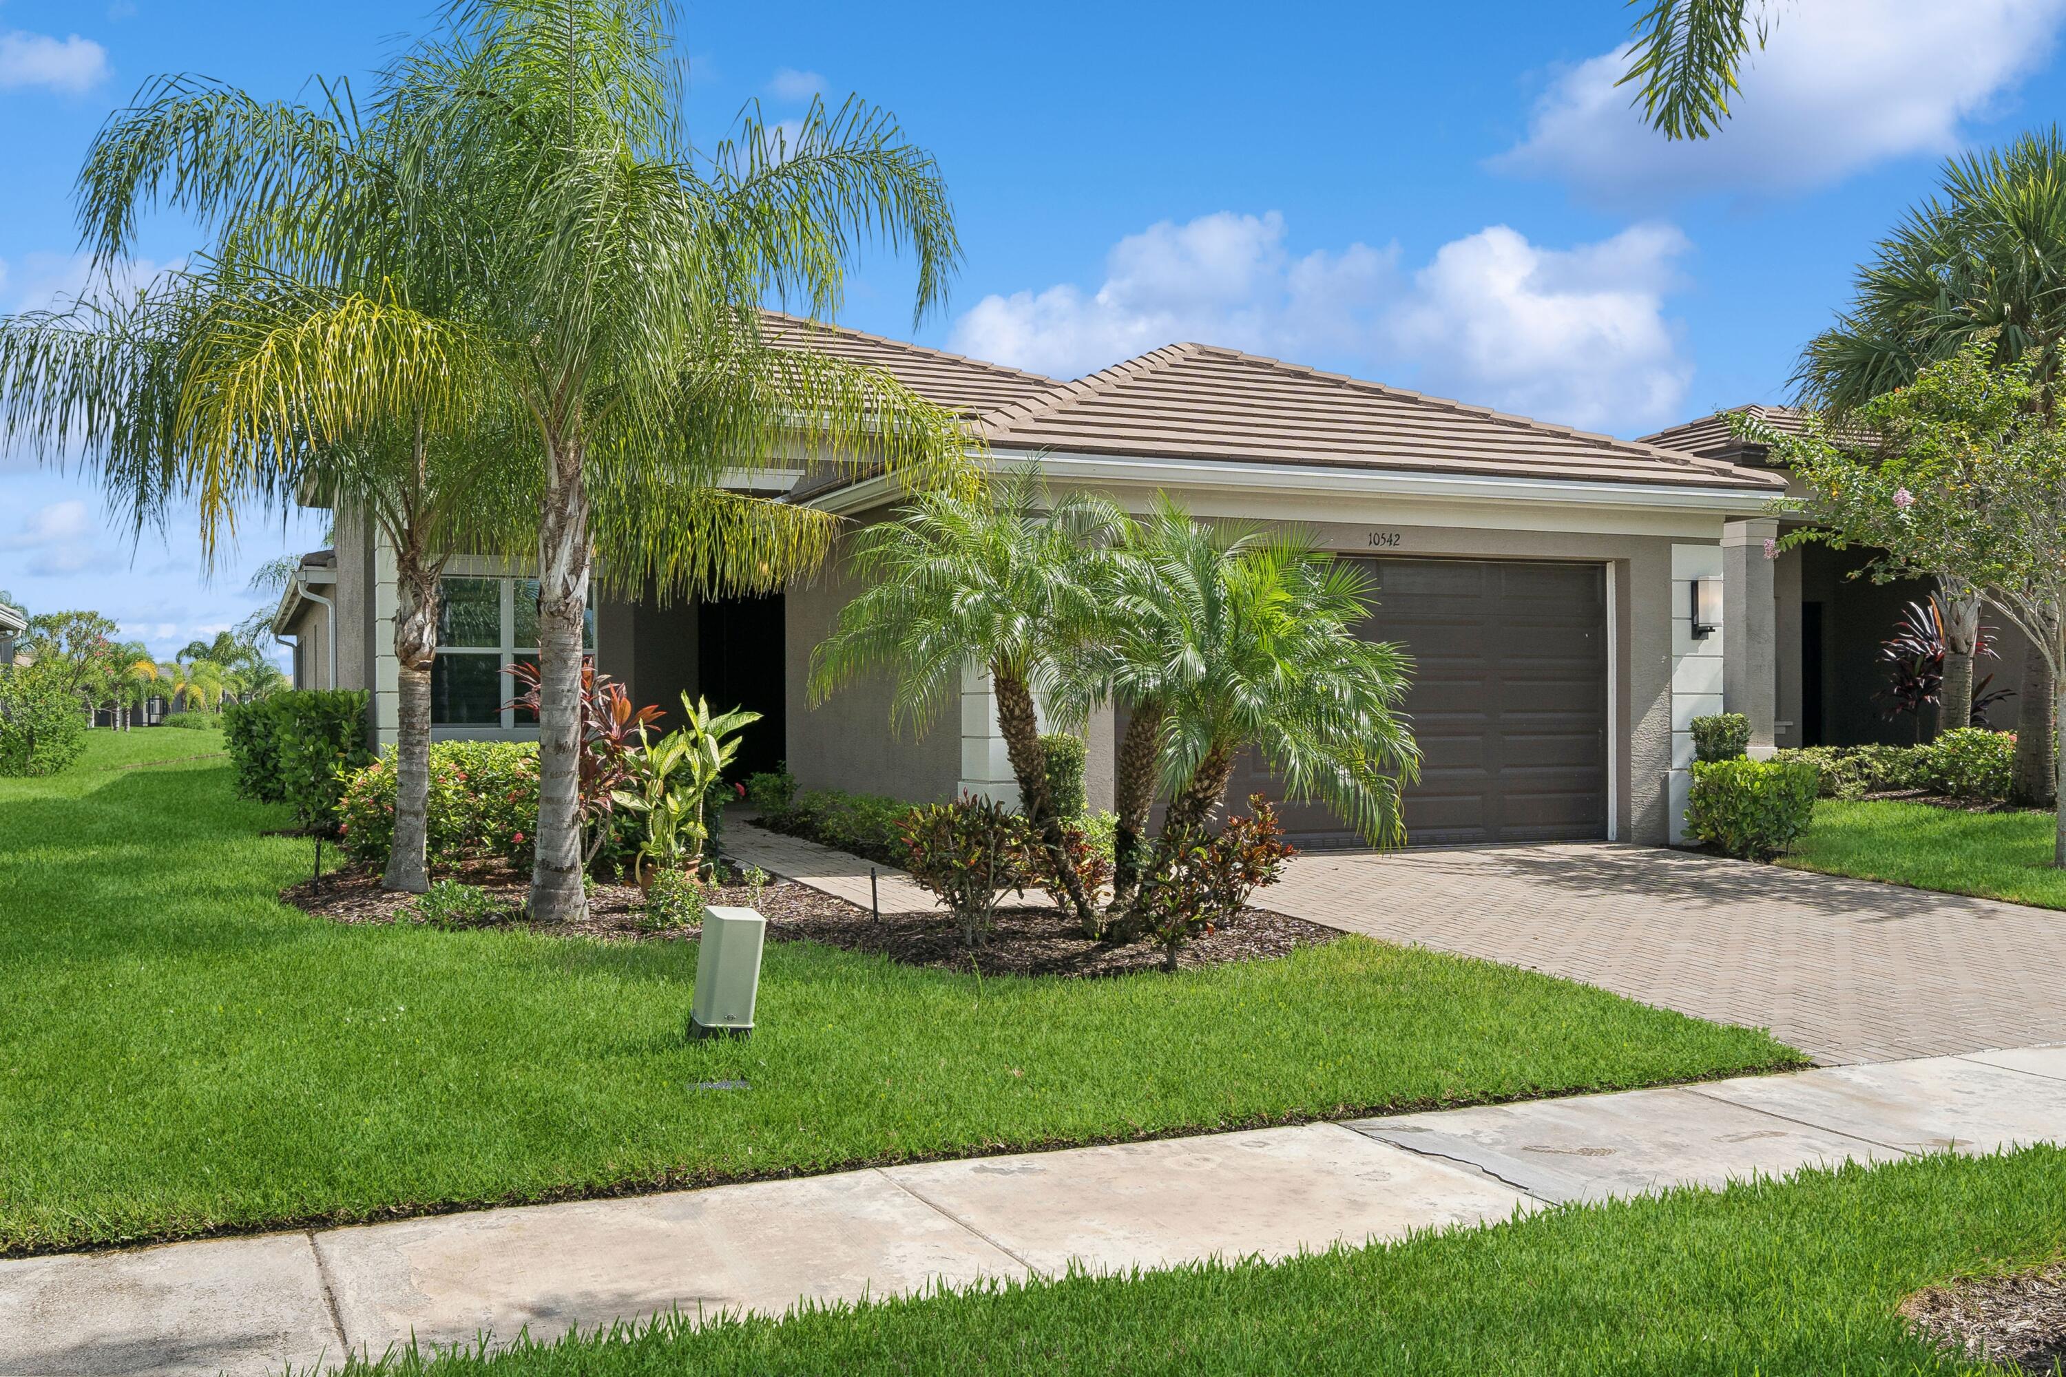
[[[1095,293],[983,297],[950,347],[1072,378],[1198,341],[1626,434],[1676,417],[1692,380],[1665,314],[1688,248],[1661,223],[1562,250],[1492,225],[1405,277],[1397,246],[1293,256],[1277,213],[1219,213],[1128,235]]]

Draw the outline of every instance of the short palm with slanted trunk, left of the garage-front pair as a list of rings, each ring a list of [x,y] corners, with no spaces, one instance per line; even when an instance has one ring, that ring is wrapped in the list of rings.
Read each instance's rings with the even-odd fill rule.
[[[1060,663],[1101,626],[1085,510],[1047,510],[1039,473],[1014,469],[990,491],[921,493],[893,520],[868,526],[849,559],[866,586],[812,650],[810,692],[822,702],[843,683],[888,669],[897,675],[895,720],[924,731],[961,702],[967,669],[981,667],[1019,807],[1039,830],[1076,921],[1097,931],[1047,791],[1035,706],[1037,696],[1062,687]]]

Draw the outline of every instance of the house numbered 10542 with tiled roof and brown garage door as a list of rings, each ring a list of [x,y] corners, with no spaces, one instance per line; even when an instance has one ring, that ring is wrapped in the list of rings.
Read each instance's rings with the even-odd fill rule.
[[[1762,543],[1783,479],[1756,467],[1591,436],[1207,345],[1171,345],[1074,382],[859,330],[779,320],[797,347],[880,365],[969,417],[996,465],[1037,458],[1056,487],[1132,508],[1157,489],[1204,518],[1312,529],[1368,559],[1366,634],[1417,659],[1407,700],[1426,751],[1407,793],[1417,842],[1678,840],[1690,720],[1725,706],[1773,743],[1773,566]],[[781,475],[787,502],[870,522],[893,481],[826,467]],[[764,489],[764,481],[762,481]],[[523,570],[455,557],[434,671],[440,737],[521,737],[510,663],[535,648]],[[812,648],[851,597],[835,562],[766,599],[661,607],[601,601],[593,644],[640,704],[682,690],[766,714],[746,768],[787,760],[806,784],[907,799],[1012,797],[990,687],[899,739],[888,683],[812,708]],[[302,687],[372,687],[395,739],[393,553],[351,512],[281,599]],[[1698,613],[1698,617],[1696,617]],[[1704,621],[1702,621],[1704,617]],[[1723,654],[1729,646],[1729,654]],[[1114,712],[1089,723],[1091,797],[1109,805]],[[1242,772],[1231,795],[1269,789]],[[1289,809],[1308,844],[1347,840],[1324,809]]]

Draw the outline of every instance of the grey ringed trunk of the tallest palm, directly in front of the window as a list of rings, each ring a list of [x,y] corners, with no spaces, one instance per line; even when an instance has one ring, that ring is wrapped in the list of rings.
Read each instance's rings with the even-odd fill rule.
[[[531,917],[581,919],[581,630],[589,607],[589,493],[578,442],[547,454],[537,529],[537,859]]]

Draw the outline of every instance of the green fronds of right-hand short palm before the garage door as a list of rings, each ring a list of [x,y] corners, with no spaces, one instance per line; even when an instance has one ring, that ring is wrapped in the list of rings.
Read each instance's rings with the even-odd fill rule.
[[[1128,524],[1099,677],[1134,704],[1120,745],[1120,826],[1134,846],[1153,801],[1145,760],[1171,797],[1171,838],[1204,826],[1244,747],[1370,844],[1405,840],[1399,791],[1419,772],[1399,716],[1411,659],[1357,636],[1370,607],[1368,574],[1304,533],[1194,522],[1167,495]]]

